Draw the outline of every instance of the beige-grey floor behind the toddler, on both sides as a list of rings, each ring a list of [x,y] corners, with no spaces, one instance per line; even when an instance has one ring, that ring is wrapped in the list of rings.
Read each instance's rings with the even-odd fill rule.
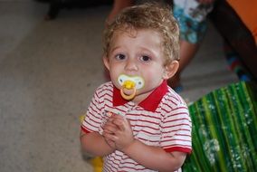
[[[91,171],[81,158],[80,116],[104,81],[100,36],[110,6],[62,10],[0,0],[0,171]],[[237,81],[212,25],[183,74],[190,101]]]

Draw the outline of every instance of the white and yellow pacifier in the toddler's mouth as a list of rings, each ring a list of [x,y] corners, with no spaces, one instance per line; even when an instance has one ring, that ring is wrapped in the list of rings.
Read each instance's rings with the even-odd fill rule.
[[[138,89],[144,87],[145,81],[139,76],[119,75],[120,94],[125,100],[132,100]]]

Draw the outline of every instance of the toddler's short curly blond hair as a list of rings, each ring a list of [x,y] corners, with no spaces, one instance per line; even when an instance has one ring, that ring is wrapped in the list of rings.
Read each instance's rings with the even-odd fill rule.
[[[179,60],[179,29],[169,6],[147,3],[125,8],[103,33],[103,51],[109,56],[111,39],[117,31],[150,29],[160,33],[165,65]]]

